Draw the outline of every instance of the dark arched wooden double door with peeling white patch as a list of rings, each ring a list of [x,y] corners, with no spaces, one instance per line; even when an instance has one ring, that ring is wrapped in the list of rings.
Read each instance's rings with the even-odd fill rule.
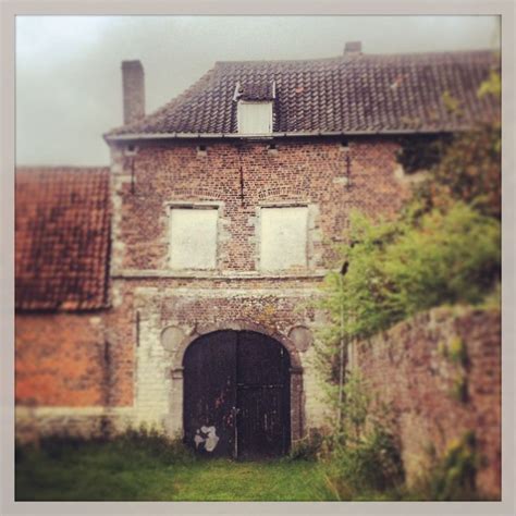
[[[183,359],[186,443],[214,456],[285,454],[290,366],[283,345],[255,331],[222,330],[196,339]]]

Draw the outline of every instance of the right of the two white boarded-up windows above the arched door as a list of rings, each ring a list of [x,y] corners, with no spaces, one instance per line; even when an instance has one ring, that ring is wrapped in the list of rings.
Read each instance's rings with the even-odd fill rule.
[[[306,267],[308,209],[306,207],[261,209],[260,267],[285,270]]]

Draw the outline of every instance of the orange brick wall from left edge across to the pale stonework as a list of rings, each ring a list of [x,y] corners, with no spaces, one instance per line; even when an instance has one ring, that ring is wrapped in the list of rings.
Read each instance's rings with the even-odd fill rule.
[[[134,327],[122,316],[109,310],[17,314],[16,404],[131,405]],[[114,329],[113,321],[120,328]]]

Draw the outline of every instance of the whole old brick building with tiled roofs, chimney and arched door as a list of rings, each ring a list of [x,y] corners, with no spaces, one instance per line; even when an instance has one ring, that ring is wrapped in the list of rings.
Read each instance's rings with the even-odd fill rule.
[[[312,302],[332,244],[353,209],[409,195],[401,137],[492,115],[477,89],[494,64],[357,44],[219,62],[146,115],[143,66],[124,62],[110,171],[17,173],[19,433],[145,422],[253,455],[320,427]]]

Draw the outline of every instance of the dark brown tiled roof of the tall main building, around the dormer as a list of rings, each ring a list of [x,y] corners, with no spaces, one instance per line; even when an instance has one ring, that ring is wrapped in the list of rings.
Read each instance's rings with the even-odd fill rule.
[[[273,82],[274,133],[456,131],[500,109],[477,96],[496,65],[488,50],[219,62],[163,108],[106,136],[236,133],[236,84],[267,90]],[[456,112],[446,96],[458,100]]]

